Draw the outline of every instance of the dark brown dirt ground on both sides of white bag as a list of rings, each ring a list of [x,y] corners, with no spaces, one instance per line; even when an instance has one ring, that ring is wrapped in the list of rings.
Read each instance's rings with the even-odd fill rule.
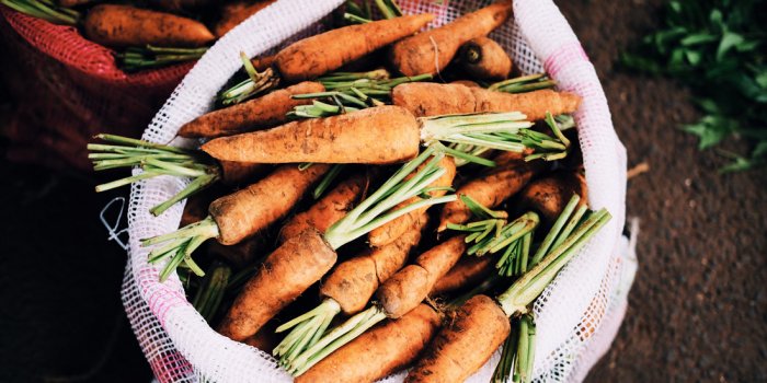
[[[587,380],[766,381],[767,172],[718,174],[724,160],[677,129],[696,118],[686,90],[616,68],[660,1],[559,3],[596,65],[630,166],[651,167],[628,189],[642,230],[629,311]],[[125,255],[98,220],[118,193],[95,195],[92,175],[4,160],[0,178],[0,381],[148,382],[119,302]]]

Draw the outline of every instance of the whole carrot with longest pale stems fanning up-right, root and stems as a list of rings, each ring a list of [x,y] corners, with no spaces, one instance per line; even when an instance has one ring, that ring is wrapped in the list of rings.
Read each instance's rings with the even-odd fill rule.
[[[253,336],[285,304],[295,300],[333,266],[335,249],[365,235],[369,230],[424,205],[444,204],[454,199],[455,196],[432,198],[397,211],[389,211],[391,207],[397,206],[402,200],[423,193],[426,185],[445,173],[445,170],[437,166],[440,158],[431,159],[434,152],[434,149],[427,148],[416,159],[404,164],[378,190],[358,204],[323,234],[310,229],[298,236],[288,239],[267,257],[267,266],[248,281],[236,304],[227,314],[225,323],[219,328],[220,332],[234,340]],[[428,165],[419,170],[419,166],[426,161],[428,161]],[[314,164],[309,170],[316,166],[319,165]],[[417,171],[416,176],[403,182],[404,177],[414,171]],[[270,263],[268,259],[272,262]],[[277,268],[284,271],[277,271]],[[296,276],[291,275],[294,272]],[[286,287],[284,288],[283,285]],[[313,328],[307,328],[307,330],[313,330],[320,326],[323,326],[322,322],[317,323]],[[306,340],[311,340],[311,337]]]

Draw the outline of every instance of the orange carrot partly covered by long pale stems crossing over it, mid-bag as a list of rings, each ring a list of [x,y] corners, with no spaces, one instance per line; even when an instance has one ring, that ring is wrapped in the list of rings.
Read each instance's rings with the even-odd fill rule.
[[[439,167],[445,169],[447,172],[436,179],[434,183],[430,185],[430,187],[450,187],[453,186],[453,179],[456,176],[456,164],[450,156],[445,156],[439,162]],[[445,189],[437,189],[437,190],[432,190],[428,194],[432,197],[439,197],[444,196],[445,193],[447,193]],[[394,207],[394,209],[408,206],[410,204],[415,204],[417,201],[422,200],[421,197],[413,197],[399,206]],[[375,229],[370,231],[368,234],[368,242],[370,243],[371,246],[385,246],[387,244],[390,244],[394,242],[402,233],[404,233],[408,228],[410,228],[413,224],[413,221],[415,221],[421,213],[425,212],[428,208],[421,208],[417,210],[414,210],[408,214],[404,214],[378,229]]]

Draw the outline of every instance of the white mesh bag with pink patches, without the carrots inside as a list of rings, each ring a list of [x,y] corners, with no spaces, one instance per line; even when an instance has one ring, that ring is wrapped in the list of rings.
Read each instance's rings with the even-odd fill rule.
[[[144,134],[171,141],[186,121],[213,106],[216,92],[240,68],[240,51],[256,56],[297,36],[320,31],[318,21],[342,0],[281,0],[232,30],[197,62]],[[405,13],[437,15],[432,26],[489,1],[399,1]],[[491,35],[523,73],[546,70],[560,90],[580,94],[575,114],[589,189],[588,202],[614,219],[554,279],[535,303],[539,381],[580,381],[613,341],[626,312],[636,258],[621,237],[625,221],[626,150],[613,129],[593,66],[551,0],[516,0],[514,18]],[[175,140],[179,146],[193,141]],[[139,172],[136,170],[136,172]],[[139,240],[174,231],[183,204],[161,217],[149,208],[185,186],[186,179],[159,177],[135,184],[128,208],[129,249],[123,303],[138,341],[161,382],[284,382],[290,376],[267,353],[218,335],[194,310],[175,274],[160,283],[164,265],[149,265]],[[488,382],[499,352],[473,376]],[[386,381],[401,381],[403,373]]]

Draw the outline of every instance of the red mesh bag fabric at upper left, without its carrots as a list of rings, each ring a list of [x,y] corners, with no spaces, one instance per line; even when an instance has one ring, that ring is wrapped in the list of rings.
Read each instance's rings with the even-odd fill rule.
[[[3,128],[11,161],[90,169],[90,138],[98,132],[139,137],[194,65],[125,73],[113,50],[76,27],[4,5],[0,13],[0,76],[18,102]]]

